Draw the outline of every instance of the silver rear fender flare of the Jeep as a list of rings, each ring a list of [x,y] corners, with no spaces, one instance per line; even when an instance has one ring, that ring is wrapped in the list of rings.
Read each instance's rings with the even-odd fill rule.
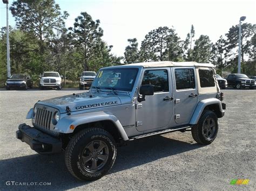
[[[207,105],[212,105],[212,104],[218,104],[219,105],[219,111],[224,112],[220,100],[217,98],[210,98],[206,100],[202,100],[197,104],[196,109],[193,112],[193,115],[190,120],[190,124],[194,125],[197,124],[199,121],[199,118],[201,117],[201,114],[203,113],[205,107]]]

